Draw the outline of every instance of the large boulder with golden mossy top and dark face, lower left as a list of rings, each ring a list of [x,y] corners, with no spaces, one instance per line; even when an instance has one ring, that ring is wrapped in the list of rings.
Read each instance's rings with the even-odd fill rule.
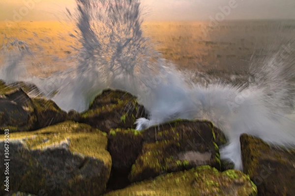
[[[105,133],[87,124],[64,122],[33,132],[11,133],[9,138],[13,191],[52,196],[105,192],[112,167]],[[3,160],[0,163],[4,171]],[[0,177],[4,179],[4,172]],[[0,195],[4,195],[3,181],[0,186]]]

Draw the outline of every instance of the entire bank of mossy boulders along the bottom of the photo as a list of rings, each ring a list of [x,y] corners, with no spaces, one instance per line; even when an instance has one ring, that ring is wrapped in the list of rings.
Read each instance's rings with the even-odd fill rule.
[[[0,128],[9,129],[5,196],[294,196],[295,150],[240,137],[244,172],[220,159],[226,138],[208,121],[135,130],[137,99],[106,90],[84,113],[62,111],[33,85],[0,81]],[[3,130],[3,131],[2,131]],[[4,157],[4,135],[0,155]]]

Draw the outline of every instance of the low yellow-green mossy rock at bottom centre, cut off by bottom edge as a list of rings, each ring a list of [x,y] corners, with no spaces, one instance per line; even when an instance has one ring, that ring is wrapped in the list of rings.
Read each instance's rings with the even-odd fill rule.
[[[257,196],[249,176],[240,171],[218,172],[209,166],[168,173],[135,183],[104,196]]]

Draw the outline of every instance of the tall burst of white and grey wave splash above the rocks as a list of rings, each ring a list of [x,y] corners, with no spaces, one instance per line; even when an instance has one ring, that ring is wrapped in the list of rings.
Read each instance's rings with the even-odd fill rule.
[[[68,12],[77,18],[81,32],[82,49],[74,70],[43,79],[22,78],[35,83],[62,109],[82,112],[104,89],[127,91],[150,114],[149,119],[136,121],[138,130],[175,119],[212,121],[229,139],[221,158],[233,161],[239,170],[242,133],[274,145],[295,145],[293,43],[262,62],[252,61],[255,80],[248,86],[195,84],[143,36],[139,0],[77,0],[77,10],[77,15]],[[284,47],[291,53],[286,55]],[[22,67],[17,63],[21,58],[23,55],[10,65],[6,62],[1,73]]]

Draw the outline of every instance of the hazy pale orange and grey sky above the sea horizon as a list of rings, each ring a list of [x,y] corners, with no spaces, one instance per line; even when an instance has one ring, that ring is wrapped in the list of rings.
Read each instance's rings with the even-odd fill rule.
[[[142,0],[142,5],[147,20],[209,20],[231,1],[236,8],[225,20],[295,19],[295,0]],[[75,0],[0,0],[0,20],[13,21],[18,14],[22,21],[58,20],[66,7],[74,8]]]

